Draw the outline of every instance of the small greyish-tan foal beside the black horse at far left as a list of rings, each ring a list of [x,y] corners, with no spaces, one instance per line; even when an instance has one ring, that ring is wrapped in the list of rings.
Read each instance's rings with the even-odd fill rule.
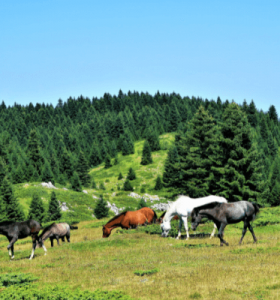
[[[52,223],[51,225],[44,228],[42,233],[39,235],[37,247],[42,246],[43,242],[48,238],[51,240],[52,247],[53,247],[54,239],[57,240],[58,245],[59,245],[59,239],[61,239],[64,242],[65,237],[68,243],[70,243],[70,229],[78,229],[78,227],[70,226],[67,223],[58,223],[58,224]]]

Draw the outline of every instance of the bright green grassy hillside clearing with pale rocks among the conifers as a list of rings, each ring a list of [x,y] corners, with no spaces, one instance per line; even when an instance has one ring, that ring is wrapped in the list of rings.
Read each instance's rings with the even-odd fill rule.
[[[130,192],[122,191],[125,177],[130,167],[136,173],[136,179],[131,181],[134,187],[134,192],[143,195],[140,190],[145,188],[145,192],[151,195],[159,195],[160,197],[168,197],[168,193],[163,189],[158,192],[154,190],[155,179],[158,175],[162,175],[164,170],[164,162],[167,157],[167,151],[174,141],[174,134],[165,134],[160,136],[160,143],[163,150],[152,153],[153,163],[147,166],[140,165],[142,149],[144,141],[135,143],[135,153],[133,155],[122,156],[118,155],[119,164],[112,166],[109,169],[104,169],[104,164],[90,170],[90,176],[94,178],[97,184],[97,189],[85,188],[86,193],[78,193],[71,191],[70,186],[61,186],[57,184],[55,193],[60,202],[66,202],[71,212],[65,213],[64,218],[72,218],[79,220],[92,220],[93,208],[95,207],[96,199],[93,198],[103,195],[103,198],[110,203],[115,203],[117,207],[136,208],[138,200],[128,197]],[[122,173],[124,178],[118,180],[119,173]],[[106,190],[98,189],[100,183],[104,183]],[[68,188],[65,190],[63,188]],[[39,182],[24,183],[14,185],[15,195],[19,199],[24,208],[25,213],[28,213],[29,206],[33,194],[36,192],[42,198],[43,202],[48,205],[51,192],[53,189],[42,187]],[[161,202],[167,201],[162,199]],[[151,204],[148,201],[148,205]]]

